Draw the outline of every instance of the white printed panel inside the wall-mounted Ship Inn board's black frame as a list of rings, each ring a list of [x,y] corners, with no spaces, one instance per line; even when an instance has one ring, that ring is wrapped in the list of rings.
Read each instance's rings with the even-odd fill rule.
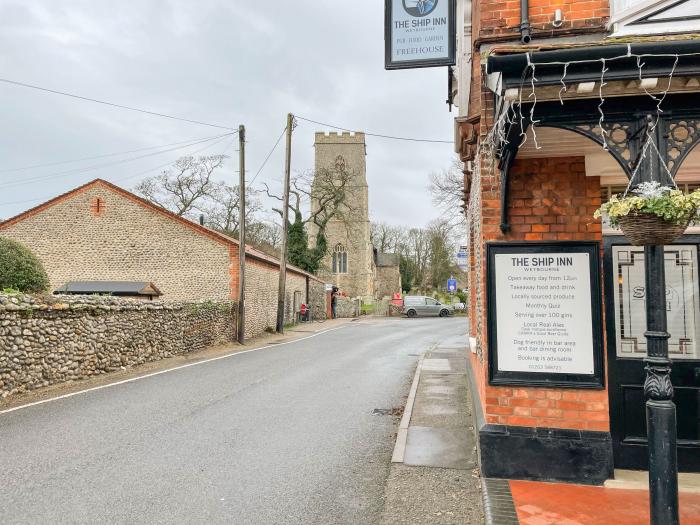
[[[498,370],[593,374],[590,255],[496,254]]]

